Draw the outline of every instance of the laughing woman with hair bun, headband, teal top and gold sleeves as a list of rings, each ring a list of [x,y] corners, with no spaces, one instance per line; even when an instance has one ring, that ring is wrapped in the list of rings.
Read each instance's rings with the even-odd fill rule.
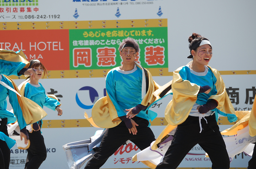
[[[208,66],[212,58],[209,40],[193,33],[188,41],[188,58],[193,60],[173,72],[173,99],[165,110],[169,125],[163,133],[169,133],[166,130],[170,126],[177,125],[177,130],[156,168],[176,169],[189,150],[199,144],[208,153],[212,169],[228,169],[230,160],[216,119],[218,114],[227,116],[230,122],[237,117],[218,70]],[[151,148],[166,138],[163,133]]]

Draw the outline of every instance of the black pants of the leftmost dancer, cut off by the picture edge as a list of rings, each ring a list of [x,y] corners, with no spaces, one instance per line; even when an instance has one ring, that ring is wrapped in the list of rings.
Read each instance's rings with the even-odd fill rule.
[[[8,135],[7,131],[7,118],[2,118],[0,121],[0,131]],[[11,152],[5,141],[0,139],[0,169],[8,169],[10,165]]]

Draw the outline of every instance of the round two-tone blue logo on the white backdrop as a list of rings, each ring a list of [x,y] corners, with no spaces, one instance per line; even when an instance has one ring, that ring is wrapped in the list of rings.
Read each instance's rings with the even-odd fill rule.
[[[91,108],[93,108],[94,103],[99,99],[98,92],[93,87],[90,87],[90,86],[82,87],[79,90],[88,90],[89,91],[89,96],[90,96],[91,103],[88,103],[88,105],[84,105],[79,100],[78,94],[76,93],[76,103],[78,104],[78,106],[83,108],[83,109],[91,109]]]

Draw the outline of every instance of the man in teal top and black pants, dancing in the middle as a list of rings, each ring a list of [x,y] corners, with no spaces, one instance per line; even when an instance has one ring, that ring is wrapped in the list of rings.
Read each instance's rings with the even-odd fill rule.
[[[157,116],[147,106],[155,101],[153,92],[159,88],[150,72],[135,62],[139,44],[132,38],[119,46],[123,65],[113,68],[106,76],[107,96],[99,99],[92,109],[91,123],[107,128],[99,149],[85,169],[99,169],[126,141],[140,150],[155,140],[149,120]],[[154,84],[155,83],[155,84]]]

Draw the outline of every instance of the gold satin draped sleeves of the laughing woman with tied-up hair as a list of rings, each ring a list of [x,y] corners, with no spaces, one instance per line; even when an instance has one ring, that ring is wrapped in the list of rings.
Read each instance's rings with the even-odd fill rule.
[[[197,100],[197,94],[200,89],[197,84],[190,83],[188,80],[182,80],[179,74],[182,67],[173,72],[173,99],[169,102],[165,110],[165,118],[170,125],[179,125],[187,119]],[[216,107],[218,110],[226,114],[235,114],[234,107],[227,95],[221,75],[218,70],[213,69],[210,66],[208,67],[217,79],[215,83],[217,94],[212,95],[209,99],[215,99],[218,102],[218,106]]]

